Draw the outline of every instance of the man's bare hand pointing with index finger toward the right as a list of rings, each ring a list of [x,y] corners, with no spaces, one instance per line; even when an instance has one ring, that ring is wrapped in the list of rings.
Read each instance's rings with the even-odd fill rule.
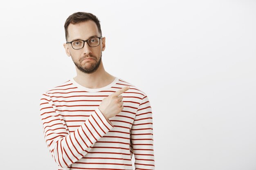
[[[106,117],[106,119],[114,117],[123,110],[124,102],[122,101],[123,96],[121,94],[128,89],[130,89],[130,86],[125,86],[124,88],[119,89],[102,100],[101,104],[99,105],[99,110]]]

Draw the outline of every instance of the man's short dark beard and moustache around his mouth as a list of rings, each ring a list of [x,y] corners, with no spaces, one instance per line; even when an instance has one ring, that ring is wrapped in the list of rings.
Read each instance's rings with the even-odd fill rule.
[[[101,52],[101,56],[102,56],[102,52]],[[81,62],[83,61],[83,59],[85,59],[85,57],[83,57],[81,60],[79,60],[79,62],[75,62],[71,55],[71,58],[72,58],[74,64],[81,72],[91,74],[91,73],[94,73],[95,71],[97,71],[97,69],[99,68],[99,65],[101,64],[101,57],[99,58],[98,62],[97,62],[97,57],[95,57],[94,55],[89,55],[89,57],[93,58],[94,61],[88,61],[88,62],[90,62],[90,64],[85,62],[85,64],[82,65]]]

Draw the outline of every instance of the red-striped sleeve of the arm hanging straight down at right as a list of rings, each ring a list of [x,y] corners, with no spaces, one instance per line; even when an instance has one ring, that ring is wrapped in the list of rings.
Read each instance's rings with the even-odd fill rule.
[[[138,107],[130,131],[135,170],[154,170],[153,119],[148,97],[145,95]]]

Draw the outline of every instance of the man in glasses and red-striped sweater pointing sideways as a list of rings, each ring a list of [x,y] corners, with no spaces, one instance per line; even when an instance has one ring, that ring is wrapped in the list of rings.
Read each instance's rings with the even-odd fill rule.
[[[43,93],[40,116],[59,170],[154,170],[153,119],[147,95],[104,70],[98,18],[77,12],[65,22],[76,77]]]

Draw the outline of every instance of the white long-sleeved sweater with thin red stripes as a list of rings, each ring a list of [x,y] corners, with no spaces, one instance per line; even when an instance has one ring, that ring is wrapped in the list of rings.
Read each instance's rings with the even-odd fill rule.
[[[102,99],[124,86],[124,109],[110,122]],[[45,141],[58,170],[154,170],[153,119],[147,95],[120,79],[86,88],[73,78],[43,93],[40,117]]]

